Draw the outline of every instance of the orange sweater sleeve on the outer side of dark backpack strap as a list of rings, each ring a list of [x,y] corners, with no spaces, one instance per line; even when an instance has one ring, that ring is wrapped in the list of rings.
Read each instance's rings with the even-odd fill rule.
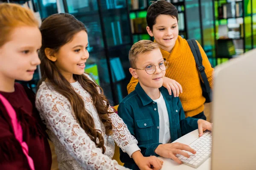
[[[207,76],[208,82],[210,87],[212,88],[213,86],[213,74],[214,74],[214,68],[212,68],[211,63],[209,62],[209,59],[206,55],[206,53],[204,52],[204,49],[201,47],[201,45],[199,44],[198,41],[196,41],[199,47],[199,50],[201,52],[201,56],[203,58],[203,65],[205,68],[205,74]]]

